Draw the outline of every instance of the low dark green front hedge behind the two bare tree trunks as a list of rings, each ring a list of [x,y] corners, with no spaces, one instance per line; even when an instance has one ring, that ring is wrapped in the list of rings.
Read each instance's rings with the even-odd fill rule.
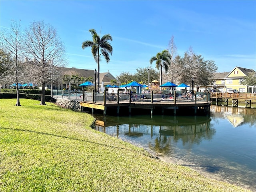
[[[17,93],[0,93],[0,98],[1,99],[14,99],[17,98]],[[40,94],[25,94],[25,93],[20,93],[20,98],[27,98],[27,99],[33,99],[33,100],[41,100],[41,95]],[[45,95],[45,101],[50,102],[51,101],[51,96],[50,95]]]

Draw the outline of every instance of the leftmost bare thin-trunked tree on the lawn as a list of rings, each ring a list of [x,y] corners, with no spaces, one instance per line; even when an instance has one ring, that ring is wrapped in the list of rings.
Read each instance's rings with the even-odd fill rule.
[[[6,71],[1,76],[5,82],[16,84],[17,102],[16,106],[20,105],[19,80],[24,76],[21,57],[24,53],[23,35],[20,21],[12,20],[10,30],[2,30],[0,32],[0,46],[12,57],[9,62],[5,63]]]

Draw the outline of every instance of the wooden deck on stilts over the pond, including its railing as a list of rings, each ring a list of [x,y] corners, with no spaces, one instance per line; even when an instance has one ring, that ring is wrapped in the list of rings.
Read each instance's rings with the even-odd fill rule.
[[[85,93],[80,101],[82,111],[102,110],[103,115],[171,114],[209,115],[208,93],[194,94],[108,94]]]

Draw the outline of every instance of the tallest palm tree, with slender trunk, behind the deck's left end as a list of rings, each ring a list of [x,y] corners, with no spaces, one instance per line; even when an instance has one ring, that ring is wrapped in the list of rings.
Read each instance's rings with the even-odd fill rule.
[[[112,36],[105,34],[100,38],[94,29],[90,29],[89,32],[92,34],[92,40],[84,41],[82,48],[92,48],[92,56],[98,63],[98,92],[100,92],[100,56],[103,55],[107,63],[110,61],[109,54],[112,56],[113,49],[108,40],[112,41]]]

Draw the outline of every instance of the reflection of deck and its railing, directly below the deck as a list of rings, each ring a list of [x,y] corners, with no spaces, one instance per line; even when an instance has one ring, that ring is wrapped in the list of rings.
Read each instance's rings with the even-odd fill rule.
[[[113,120],[113,119],[112,119]],[[161,121],[162,120],[162,121]],[[182,136],[194,135],[210,130],[210,116],[204,118],[174,118],[170,120],[158,118],[156,120],[141,120],[140,118],[118,118],[113,122],[96,120],[96,130],[109,135],[124,134],[131,137],[143,135]]]

